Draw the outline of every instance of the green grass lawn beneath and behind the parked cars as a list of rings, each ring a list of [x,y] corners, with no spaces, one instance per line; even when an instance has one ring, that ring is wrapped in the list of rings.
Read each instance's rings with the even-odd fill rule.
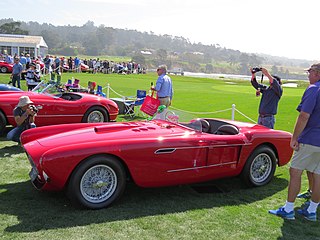
[[[85,86],[96,81],[110,84],[120,95],[149,89],[156,74],[104,75],[64,74]],[[257,118],[260,98],[248,81],[172,76],[175,95],[172,110],[180,119],[231,118],[232,104],[251,119]],[[0,75],[0,82],[8,82]],[[22,81],[24,84],[24,81]],[[307,83],[285,88],[276,129],[292,132]],[[111,91],[110,97],[117,97]],[[236,113],[236,120],[250,121]],[[117,121],[126,121],[119,116]],[[90,211],[70,205],[63,193],[36,191],[28,177],[29,163],[22,148],[0,137],[0,239],[320,239],[319,221],[297,216],[284,221],[269,215],[281,206],[287,193],[288,166],[278,168],[273,181],[261,188],[246,188],[238,178],[199,186],[143,189],[131,184],[110,208]],[[303,188],[307,187],[306,177]],[[297,200],[296,206],[303,202]]]

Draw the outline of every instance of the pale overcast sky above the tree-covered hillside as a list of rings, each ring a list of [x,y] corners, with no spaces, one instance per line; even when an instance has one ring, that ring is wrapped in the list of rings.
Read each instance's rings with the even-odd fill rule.
[[[133,29],[248,53],[320,60],[319,0],[1,0],[0,18]]]

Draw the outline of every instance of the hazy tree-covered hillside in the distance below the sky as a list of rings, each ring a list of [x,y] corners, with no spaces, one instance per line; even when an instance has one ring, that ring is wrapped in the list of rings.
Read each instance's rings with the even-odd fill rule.
[[[8,22],[14,20],[1,19],[0,26]],[[182,67],[193,72],[248,74],[250,66],[267,65],[272,67],[274,74],[295,78],[301,72],[299,69],[311,63],[308,60],[244,53],[222,48],[219,44],[191,43],[181,36],[95,26],[92,21],[82,26],[21,22],[20,28],[28,31],[29,35],[43,36],[51,54],[130,56],[133,61],[149,68],[165,63],[169,68]]]

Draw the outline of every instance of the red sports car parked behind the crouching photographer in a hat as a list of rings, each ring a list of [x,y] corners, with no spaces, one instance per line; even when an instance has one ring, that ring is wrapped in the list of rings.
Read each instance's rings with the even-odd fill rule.
[[[50,86],[49,86],[50,87]],[[51,86],[55,89],[55,86]],[[29,96],[37,107],[36,125],[115,121],[118,106],[112,100],[87,93],[49,93],[49,88],[38,92],[0,91],[0,132],[7,125],[15,126],[13,109],[23,95]]]

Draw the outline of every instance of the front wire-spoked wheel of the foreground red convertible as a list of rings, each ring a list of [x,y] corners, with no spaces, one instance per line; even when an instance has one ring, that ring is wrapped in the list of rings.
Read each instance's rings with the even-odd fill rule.
[[[126,172],[117,159],[95,156],[73,171],[67,194],[76,205],[100,209],[116,201],[125,185]]]

